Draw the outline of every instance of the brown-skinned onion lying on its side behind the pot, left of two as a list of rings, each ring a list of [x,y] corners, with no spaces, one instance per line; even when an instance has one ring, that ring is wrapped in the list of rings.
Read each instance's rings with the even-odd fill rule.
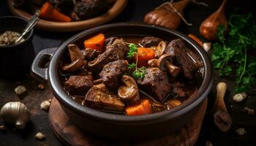
[[[181,0],[174,3],[173,1],[165,2],[153,11],[148,12],[143,21],[144,23],[176,29],[180,25],[181,19],[187,23],[183,18],[183,9],[187,6],[188,2],[189,0]],[[187,25],[191,26],[192,24],[187,23]]]

